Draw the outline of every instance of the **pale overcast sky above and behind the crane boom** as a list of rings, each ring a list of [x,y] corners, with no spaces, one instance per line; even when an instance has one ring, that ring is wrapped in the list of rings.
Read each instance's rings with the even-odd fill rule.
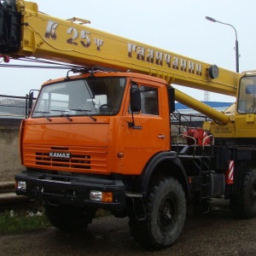
[[[90,27],[131,38],[209,64],[236,71],[236,28],[240,71],[256,69],[255,0],[37,0],[38,9],[61,19],[90,20]],[[14,64],[14,61],[10,62]],[[24,64],[22,62],[21,64]],[[3,65],[3,63],[1,63]],[[25,96],[45,80],[66,75],[66,71],[1,67],[0,95]],[[204,100],[204,91],[185,93]],[[210,93],[210,101],[236,99]]]

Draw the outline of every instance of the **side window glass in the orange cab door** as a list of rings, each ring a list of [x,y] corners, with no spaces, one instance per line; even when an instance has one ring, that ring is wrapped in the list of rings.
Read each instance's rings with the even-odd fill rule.
[[[157,89],[145,85],[140,86],[143,114],[159,114]]]

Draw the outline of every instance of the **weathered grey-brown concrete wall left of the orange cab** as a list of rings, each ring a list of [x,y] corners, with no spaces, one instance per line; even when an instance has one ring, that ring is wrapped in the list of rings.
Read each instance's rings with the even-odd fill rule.
[[[15,174],[24,168],[20,164],[19,128],[0,122],[0,183],[15,181]]]

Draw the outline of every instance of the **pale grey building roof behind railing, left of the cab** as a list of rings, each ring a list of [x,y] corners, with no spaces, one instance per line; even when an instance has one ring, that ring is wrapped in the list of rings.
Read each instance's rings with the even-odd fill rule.
[[[24,119],[26,117],[26,97],[0,95],[1,119]]]

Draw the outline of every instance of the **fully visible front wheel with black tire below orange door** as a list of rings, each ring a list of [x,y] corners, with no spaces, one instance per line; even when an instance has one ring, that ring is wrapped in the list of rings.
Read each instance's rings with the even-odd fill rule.
[[[130,216],[131,235],[148,249],[171,246],[183,230],[186,218],[186,200],[180,183],[172,177],[155,180],[150,186],[148,198],[137,215]],[[145,214],[146,213],[146,214]],[[139,220],[139,218],[146,219]]]

